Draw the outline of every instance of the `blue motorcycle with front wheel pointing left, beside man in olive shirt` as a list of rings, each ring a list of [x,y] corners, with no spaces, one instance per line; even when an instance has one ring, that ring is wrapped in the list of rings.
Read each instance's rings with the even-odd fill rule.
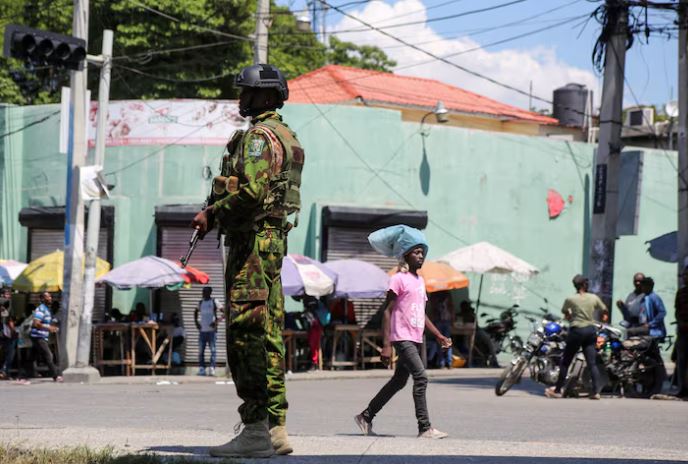
[[[533,324],[533,331],[523,349],[515,354],[497,381],[497,396],[504,395],[518,383],[526,368],[531,379],[545,385],[554,385],[559,377],[559,363],[565,347],[563,326],[547,313],[540,322],[533,318],[529,320]]]

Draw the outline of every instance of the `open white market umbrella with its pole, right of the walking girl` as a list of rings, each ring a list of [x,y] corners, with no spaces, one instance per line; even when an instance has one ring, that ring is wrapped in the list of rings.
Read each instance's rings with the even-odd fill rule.
[[[478,288],[477,308],[480,308],[480,294],[483,290],[483,276],[488,273],[495,274],[522,274],[533,276],[538,269],[517,258],[511,253],[502,250],[488,242],[478,242],[476,244],[459,248],[439,259],[443,263],[461,272],[476,272],[480,274],[480,286]]]

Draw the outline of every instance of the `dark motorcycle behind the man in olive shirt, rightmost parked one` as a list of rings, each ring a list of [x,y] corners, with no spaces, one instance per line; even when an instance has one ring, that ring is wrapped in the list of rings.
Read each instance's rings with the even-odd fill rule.
[[[622,330],[598,325],[597,365],[602,384],[612,394],[630,398],[649,398],[660,393],[666,378],[660,342],[650,336],[624,338]],[[589,386],[590,370],[579,353],[569,369],[564,391],[568,396],[576,396]]]

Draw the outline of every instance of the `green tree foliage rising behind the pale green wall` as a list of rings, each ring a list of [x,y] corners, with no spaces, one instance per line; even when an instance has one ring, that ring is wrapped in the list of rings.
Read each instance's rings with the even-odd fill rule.
[[[72,10],[72,0],[0,0],[0,28],[14,23],[71,34]],[[255,10],[255,0],[91,0],[88,49],[100,54],[103,30],[114,31],[112,100],[235,98],[234,75],[253,62],[253,43],[241,37],[253,33]],[[297,29],[287,7],[273,4],[271,12],[269,61],[288,79],[328,62],[381,71],[396,64],[374,46],[332,37],[325,47]],[[98,68],[89,67],[93,99],[98,78]],[[56,102],[68,85],[66,70],[0,58],[0,102]]]

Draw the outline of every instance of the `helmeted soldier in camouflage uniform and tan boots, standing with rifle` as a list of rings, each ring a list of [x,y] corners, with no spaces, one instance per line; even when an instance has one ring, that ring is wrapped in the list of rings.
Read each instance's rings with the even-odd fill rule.
[[[202,234],[218,223],[228,246],[227,356],[244,429],[212,447],[223,457],[289,454],[285,427],[284,297],[280,271],[287,252],[287,216],[300,207],[304,152],[275,109],[289,96],[282,73],[254,65],[237,76],[239,109],[251,128],[236,133],[213,180],[212,205],[194,218]]]

